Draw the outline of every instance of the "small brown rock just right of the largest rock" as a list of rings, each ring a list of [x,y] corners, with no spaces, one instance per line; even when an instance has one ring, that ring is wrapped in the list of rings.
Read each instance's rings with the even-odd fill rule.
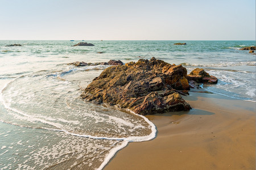
[[[211,83],[216,84],[218,79],[215,76],[209,75],[204,69],[196,68],[187,75],[189,84],[196,83]]]

